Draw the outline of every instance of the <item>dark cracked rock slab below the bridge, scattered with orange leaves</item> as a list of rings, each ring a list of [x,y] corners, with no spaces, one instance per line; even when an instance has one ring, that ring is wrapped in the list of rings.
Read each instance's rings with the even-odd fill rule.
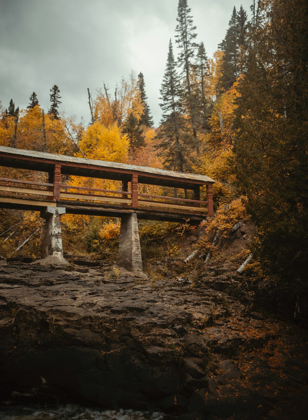
[[[0,263],[1,401],[168,418],[301,419],[307,331],[252,309],[233,273],[151,281],[114,264]]]

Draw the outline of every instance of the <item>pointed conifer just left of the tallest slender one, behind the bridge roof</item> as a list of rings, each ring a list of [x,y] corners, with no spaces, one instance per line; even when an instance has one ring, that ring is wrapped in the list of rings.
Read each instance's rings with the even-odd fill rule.
[[[185,172],[191,169],[189,152],[194,143],[189,134],[180,97],[181,78],[176,71],[171,39],[169,42],[168,58],[163,83],[160,89],[160,108],[163,110],[161,126],[156,138],[160,144],[159,155],[164,157],[164,165],[172,171]]]

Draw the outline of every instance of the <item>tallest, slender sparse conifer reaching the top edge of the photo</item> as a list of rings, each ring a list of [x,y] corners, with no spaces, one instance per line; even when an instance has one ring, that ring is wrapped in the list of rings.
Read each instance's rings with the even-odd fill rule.
[[[181,74],[184,76],[185,89],[182,91],[182,102],[189,113],[197,155],[199,155],[200,150],[196,127],[197,104],[192,95],[190,82],[195,49],[197,47],[196,42],[194,42],[194,39],[197,37],[197,34],[194,31],[197,27],[193,24],[192,16],[189,15],[190,12],[191,9],[188,7],[187,0],[179,0],[178,16],[176,18],[176,21],[178,22],[176,25],[176,43],[180,48],[178,65],[181,68]]]

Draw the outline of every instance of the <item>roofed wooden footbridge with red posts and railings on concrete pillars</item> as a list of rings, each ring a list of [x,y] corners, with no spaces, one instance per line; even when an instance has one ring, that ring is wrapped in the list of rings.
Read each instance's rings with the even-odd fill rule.
[[[127,240],[134,242],[134,238],[131,236],[134,236],[134,232],[136,236],[137,232],[138,240],[135,242],[138,248],[137,217],[178,222],[189,219],[191,223],[199,223],[213,214],[212,184],[215,181],[208,176],[1,146],[0,166],[11,168],[12,171],[14,169],[23,170],[23,179],[8,176],[0,178],[0,207],[41,212],[41,216],[48,222],[45,225],[43,248],[46,248],[46,252],[43,251],[44,257],[54,256],[61,260],[62,241],[61,250],[57,254],[52,251],[54,247],[50,245],[52,240],[49,236],[50,231],[56,225],[56,231],[59,231],[60,214],[63,213],[120,217],[122,222],[120,260],[123,238],[125,239],[125,245],[123,245],[125,248]],[[45,182],[31,180],[34,177],[33,175],[31,177],[29,171],[42,174]],[[10,172],[6,171],[6,173]],[[68,180],[72,175],[85,179],[100,178],[122,181],[122,188],[108,190],[67,184],[65,180]],[[190,191],[191,197],[142,194],[138,192],[138,186],[143,184],[171,187],[177,191]],[[200,186],[206,186],[205,201],[200,200]],[[47,231],[49,231],[49,236]],[[128,231],[133,233],[129,234]],[[122,234],[122,232],[124,233]],[[127,235],[130,239],[127,238]],[[57,233],[56,236],[59,237],[59,234]],[[51,249],[49,249],[50,247]],[[55,248],[59,247],[58,241]],[[128,257],[128,260],[133,259],[133,257]],[[137,259],[141,261],[141,255]],[[124,265],[136,269],[131,262]]]

